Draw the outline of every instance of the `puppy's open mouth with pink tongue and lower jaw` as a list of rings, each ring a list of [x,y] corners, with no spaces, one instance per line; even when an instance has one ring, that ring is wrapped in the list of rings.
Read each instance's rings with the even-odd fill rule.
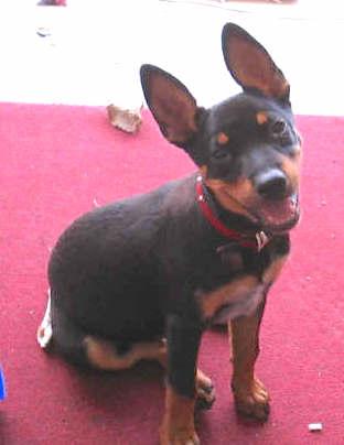
[[[300,219],[299,195],[295,193],[278,200],[259,198],[254,205],[245,205],[229,193],[227,196],[245,210],[246,216],[267,234],[284,234]]]

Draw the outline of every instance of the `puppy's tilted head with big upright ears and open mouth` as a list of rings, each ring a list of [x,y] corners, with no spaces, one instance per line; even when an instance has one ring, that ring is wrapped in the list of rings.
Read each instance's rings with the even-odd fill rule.
[[[225,63],[243,93],[209,109],[170,74],[141,68],[143,93],[162,134],[200,166],[218,203],[267,232],[299,219],[300,138],[290,87],[268,52],[241,28],[223,30]]]

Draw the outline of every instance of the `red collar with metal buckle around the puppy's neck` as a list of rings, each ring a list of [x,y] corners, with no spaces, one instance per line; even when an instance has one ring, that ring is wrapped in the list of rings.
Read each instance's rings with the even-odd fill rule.
[[[196,181],[196,197],[200,204],[200,207],[203,211],[205,218],[211,223],[213,227],[215,227],[222,235],[225,237],[237,241],[239,246],[258,250],[258,252],[270,241],[270,238],[264,232],[259,231],[256,234],[256,237],[247,237],[246,235],[239,234],[229,227],[225,226],[221,223],[216,216],[211,210],[211,207],[207,205],[205,196],[204,196],[204,187],[202,177],[198,176]]]

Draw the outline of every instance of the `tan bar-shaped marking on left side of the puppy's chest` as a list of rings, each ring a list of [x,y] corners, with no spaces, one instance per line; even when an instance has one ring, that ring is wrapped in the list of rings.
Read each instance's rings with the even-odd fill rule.
[[[212,318],[221,306],[227,303],[234,303],[238,296],[247,294],[255,289],[257,284],[257,278],[247,275],[229,284],[225,284],[216,291],[201,295],[204,317]]]

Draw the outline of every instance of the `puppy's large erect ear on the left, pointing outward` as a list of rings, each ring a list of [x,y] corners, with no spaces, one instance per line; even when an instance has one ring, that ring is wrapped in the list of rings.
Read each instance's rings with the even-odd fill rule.
[[[195,99],[182,83],[157,66],[143,65],[140,74],[147,104],[162,134],[183,146],[197,131]]]

